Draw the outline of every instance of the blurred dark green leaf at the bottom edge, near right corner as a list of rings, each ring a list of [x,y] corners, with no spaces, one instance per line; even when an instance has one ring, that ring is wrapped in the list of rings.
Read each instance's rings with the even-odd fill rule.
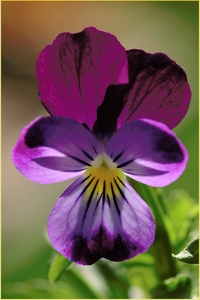
[[[150,292],[154,299],[190,298],[191,287],[191,279],[188,276],[179,275],[165,280]]]

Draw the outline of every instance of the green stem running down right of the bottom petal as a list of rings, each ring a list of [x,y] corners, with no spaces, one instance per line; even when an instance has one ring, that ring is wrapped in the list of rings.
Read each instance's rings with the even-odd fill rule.
[[[143,199],[153,210],[156,223],[155,241],[151,247],[155,258],[157,274],[160,280],[174,277],[177,274],[175,260],[172,258],[172,247],[166,230],[166,211],[162,206],[163,197],[160,190],[140,184],[139,189]]]

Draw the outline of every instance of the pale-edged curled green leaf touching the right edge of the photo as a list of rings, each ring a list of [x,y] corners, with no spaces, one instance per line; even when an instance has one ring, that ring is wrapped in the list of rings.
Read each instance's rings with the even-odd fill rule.
[[[199,236],[194,238],[179,254],[172,254],[173,257],[188,264],[199,263]]]

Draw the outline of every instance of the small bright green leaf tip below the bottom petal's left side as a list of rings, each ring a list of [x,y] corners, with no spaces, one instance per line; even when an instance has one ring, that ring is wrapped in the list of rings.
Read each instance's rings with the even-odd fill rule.
[[[62,273],[72,264],[71,261],[67,260],[60,253],[56,253],[50,262],[48,270],[48,279],[50,282],[57,281]]]

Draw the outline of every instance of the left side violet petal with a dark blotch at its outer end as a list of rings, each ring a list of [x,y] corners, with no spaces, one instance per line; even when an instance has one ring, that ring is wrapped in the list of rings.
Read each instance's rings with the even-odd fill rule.
[[[28,179],[54,183],[83,174],[101,151],[97,139],[75,120],[39,117],[22,131],[13,161]]]

